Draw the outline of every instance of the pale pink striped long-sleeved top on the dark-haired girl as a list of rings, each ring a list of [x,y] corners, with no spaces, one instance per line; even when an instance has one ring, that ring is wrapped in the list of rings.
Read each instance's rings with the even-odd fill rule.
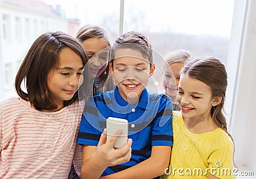
[[[47,113],[19,98],[1,102],[0,178],[67,178],[73,157],[81,167],[83,147],[76,141],[83,106]]]

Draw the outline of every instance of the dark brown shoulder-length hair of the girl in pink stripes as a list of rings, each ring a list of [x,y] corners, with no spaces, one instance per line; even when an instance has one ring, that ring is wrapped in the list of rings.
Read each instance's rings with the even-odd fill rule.
[[[88,59],[83,45],[76,38],[56,31],[39,36],[20,65],[15,79],[15,89],[20,98],[29,100],[38,110],[52,110],[56,108],[47,87],[47,75],[52,69],[58,67],[60,51],[65,47],[76,52],[83,61],[83,65],[86,64]],[[26,91],[22,90],[22,82],[24,82]],[[77,100],[78,91],[70,100],[65,101],[63,105],[65,107]]]

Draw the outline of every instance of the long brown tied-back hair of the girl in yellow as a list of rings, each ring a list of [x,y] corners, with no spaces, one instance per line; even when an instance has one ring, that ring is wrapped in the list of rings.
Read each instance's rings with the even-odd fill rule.
[[[228,84],[225,65],[223,65],[219,59],[214,57],[193,59],[186,63],[180,70],[180,74],[186,74],[189,78],[197,79],[198,81],[207,84],[211,89],[212,98],[221,97],[220,104],[212,106],[211,108],[212,121],[215,125],[225,130],[234,143],[232,136],[227,131],[227,121],[222,112]]]

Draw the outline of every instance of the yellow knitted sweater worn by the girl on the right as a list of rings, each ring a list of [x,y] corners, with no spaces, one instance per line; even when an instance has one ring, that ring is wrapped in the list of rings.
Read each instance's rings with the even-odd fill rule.
[[[236,178],[233,173],[232,139],[221,128],[193,134],[184,125],[180,111],[173,111],[173,148],[168,175],[170,178]]]

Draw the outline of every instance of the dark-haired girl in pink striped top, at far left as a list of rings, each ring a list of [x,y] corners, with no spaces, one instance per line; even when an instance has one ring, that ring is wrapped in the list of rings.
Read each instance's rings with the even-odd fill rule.
[[[66,33],[35,40],[15,79],[19,98],[0,103],[0,178],[68,178],[72,160],[82,160],[76,141],[86,94],[77,90],[86,62],[83,45]]]

